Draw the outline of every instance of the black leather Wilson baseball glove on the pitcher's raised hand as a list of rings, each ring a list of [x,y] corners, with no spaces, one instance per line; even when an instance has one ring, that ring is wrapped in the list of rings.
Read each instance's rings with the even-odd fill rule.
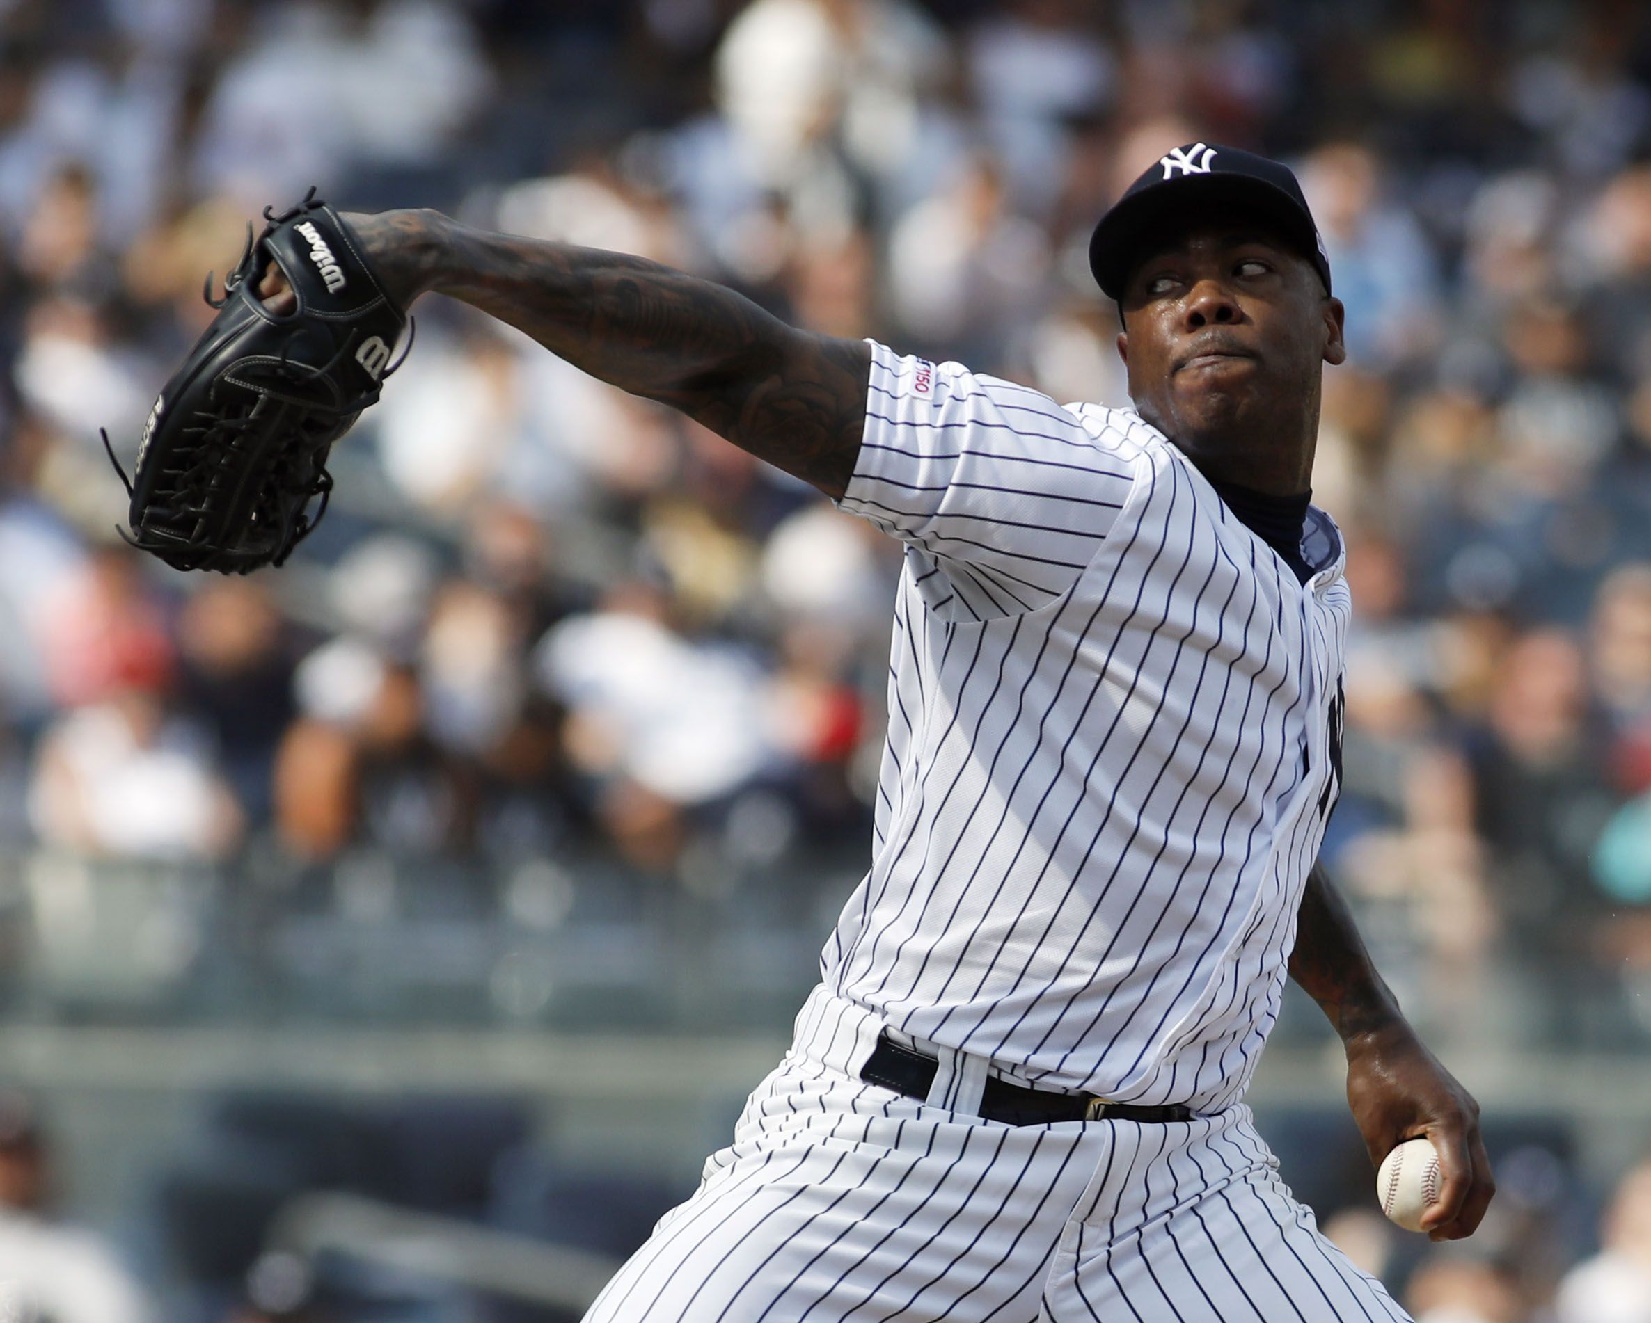
[[[400,366],[390,356],[408,323],[350,228],[315,196],[276,214],[206,302],[218,317],[162,388],[144,424],[130,478],[140,551],[178,569],[246,574],[281,564],[327,510],[327,452]],[[291,310],[258,295],[274,262]],[[320,498],[314,515],[310,501]]]

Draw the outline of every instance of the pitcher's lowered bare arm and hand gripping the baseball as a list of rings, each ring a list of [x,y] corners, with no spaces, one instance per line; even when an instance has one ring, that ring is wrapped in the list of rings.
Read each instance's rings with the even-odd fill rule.
[[[1410,1028],[1322,863],[1308,874],[1289,977],[1319,1003],[1347,1051],[1347,1102],[1372,1165],[1425,1135],[1438,1150],[1445,1186],[1423,1226],[1435,1241],[1471,1236],[1496,1193],[1479,1104]]]

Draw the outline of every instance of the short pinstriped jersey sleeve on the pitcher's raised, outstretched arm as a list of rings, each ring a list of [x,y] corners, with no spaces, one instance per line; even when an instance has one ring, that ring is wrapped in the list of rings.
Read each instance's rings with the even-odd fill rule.
[[[1133,482],[1133,449],[1027,386],[872,343],[865,437],[839,508],[908,546],[954,619],[1037,610],[1078,581]]]

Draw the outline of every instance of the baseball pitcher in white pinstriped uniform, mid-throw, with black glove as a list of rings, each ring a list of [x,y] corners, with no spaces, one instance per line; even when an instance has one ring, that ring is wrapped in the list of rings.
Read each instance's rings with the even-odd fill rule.
[[[870,869],[786,1057],[593,1321],[1402,1320],[1243,1104],[1286,977],[1346,1044],[1372,1161],[1436,1146],[1431,1236],[1484,1214],[1478,1107],[1316,864],[1351,602],[1308,492],[1346,356],[1313,216],[1286,167],[1189,144],[1091,266],[1129,409],[796,330],[636,257],[310,198],[162,391],[132,536],[187,567],[307,531],[429,292],[905,543]]]

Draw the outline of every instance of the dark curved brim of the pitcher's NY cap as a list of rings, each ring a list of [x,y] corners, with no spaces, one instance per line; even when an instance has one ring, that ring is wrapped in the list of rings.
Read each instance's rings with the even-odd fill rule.
[[[1319,256],[1319,238],[1313,223],[1283,188],[1253,175],[1177,175],[1139,193],[1121,198],[1101,216],[1090,236],[1090,271],[1108,299],[1123,302],[1124,285],[1146,246],[1190,216],[1199,221],[1218,219],[1222,210],[1235,218],[1261,216],[1278,226],[1299,254],[1313,264],[1329,289],[1329,271]]]

